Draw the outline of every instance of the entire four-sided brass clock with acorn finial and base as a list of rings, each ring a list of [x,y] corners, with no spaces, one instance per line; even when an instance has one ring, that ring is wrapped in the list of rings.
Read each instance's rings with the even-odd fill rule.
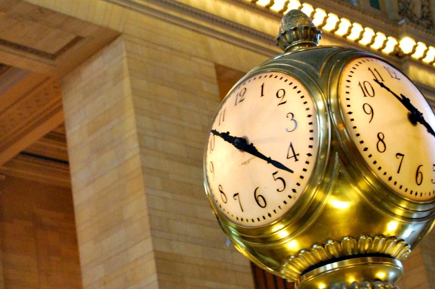
[[[392,64],[319,39],[284,15],[284,53],[215,114],[206,195],[235,248],[297,288],[397,288],[434,226],[435,114]]]

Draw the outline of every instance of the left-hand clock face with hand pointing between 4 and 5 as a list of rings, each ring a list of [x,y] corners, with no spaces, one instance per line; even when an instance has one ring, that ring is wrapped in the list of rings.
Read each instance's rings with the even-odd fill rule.
[[[213,120],[204,160],[209,198],[233,223],[264,226],[296,203],[317,155],[308,90],[289,74],[255,74],[233,88]]]

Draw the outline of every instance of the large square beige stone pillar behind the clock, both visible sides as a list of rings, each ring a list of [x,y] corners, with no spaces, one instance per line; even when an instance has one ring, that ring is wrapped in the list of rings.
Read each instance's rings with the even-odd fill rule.
[[[253,288],[204,194],[220,97],[194,53],[124,34],[63,79],[84,288]]]

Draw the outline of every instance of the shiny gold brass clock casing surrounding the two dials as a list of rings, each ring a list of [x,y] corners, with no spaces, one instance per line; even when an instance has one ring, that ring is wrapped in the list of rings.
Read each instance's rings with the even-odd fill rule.
[[[262,71],[282,71],[311,93],[319,121],[313,175],[287,215],[256,228],[231,222],[209,196],[235,247],[264,270],[291,281],[300,279],[300,288],[310,288],[303,276],[325,262],[380,255],[400,261],[434,223],[435,200],[414,201],[383,185],[359,157],[340,118],[340,74],[351,59],[367,56],[374,57],[351,48],[307,48],[251,70],[244,79]],[[205,187],[209,195],[207,183]],[[398,268],[394,262],[387,266]],[[378,279],[396,281],[399,275]],[[358,276],[362,279],[354,281],[375,278],[369,273]],[[340,281],[351,283],[345,276]]]

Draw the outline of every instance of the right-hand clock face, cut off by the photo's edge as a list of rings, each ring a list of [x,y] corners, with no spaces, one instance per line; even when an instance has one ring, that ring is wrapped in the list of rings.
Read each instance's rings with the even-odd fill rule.
[[[361,57],[342,72],[339,97],[346,129],[378,179],[408,199],[434,199],[435,116],[414,84],[384,61]]]

